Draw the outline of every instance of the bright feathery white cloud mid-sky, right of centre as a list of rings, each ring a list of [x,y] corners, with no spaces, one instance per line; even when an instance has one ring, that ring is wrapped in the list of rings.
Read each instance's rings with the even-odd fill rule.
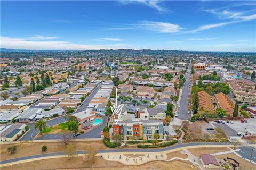
[[[153,21],[142,21],[138,24],[132,24],[135,27],[156,31],[156,32],[163,32],[163,33],[174,33],[180,31],[180,26],[176,24],[172,24],[169,22],[153,22]]]

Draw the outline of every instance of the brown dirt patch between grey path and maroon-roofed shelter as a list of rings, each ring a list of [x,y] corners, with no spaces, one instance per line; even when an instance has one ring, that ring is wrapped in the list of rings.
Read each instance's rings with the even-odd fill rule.
[[[223,148],[191,148],[188,149],[193,155],[200,156],[201,154],[213,154],[217,152],[225,152],[229,151],[230,149],[223,147]]]

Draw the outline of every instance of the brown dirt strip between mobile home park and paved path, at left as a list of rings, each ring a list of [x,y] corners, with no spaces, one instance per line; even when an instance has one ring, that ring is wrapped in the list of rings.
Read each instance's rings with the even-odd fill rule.
[[[95,149],[108,149],[102,141],[79,141],[73,142],[77,146],[77,150],[83,150],[86,145],[93,146]],[[0,145],[0,160],[38,155],[50,152],[60,152],[63,151],[63,145],[61,142],[40,142],[40,143],[19,143],[15,144],[17,146],[17,151],[14,154],[10,154],[7,148],[12,145]],[[47,150],[42,151],[42,146],[46,145]]]

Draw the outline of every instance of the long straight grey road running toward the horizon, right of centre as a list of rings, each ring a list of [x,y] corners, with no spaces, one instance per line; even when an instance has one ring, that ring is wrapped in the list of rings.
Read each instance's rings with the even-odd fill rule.
[[[188,120],[188,94],[189,94],[189,80],[191,75],[191,62],[188,65],[188,72],[186,74],[186,81],[182,90],[182,97],[180,99],[180,107],[178,109],[178,118],[181,120]]]

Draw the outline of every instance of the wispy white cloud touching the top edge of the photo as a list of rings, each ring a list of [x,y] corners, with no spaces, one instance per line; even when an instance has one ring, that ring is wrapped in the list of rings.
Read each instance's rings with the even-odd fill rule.
[[[118,1],[119,3],[126,5],[126,4],[142,4],[142,5],[146,5],[148,7],[151,7],[153,9],[156,9],[159,13],[163,13],[163,12],[170,12],[170,10],[166,9],[165,7],[159,5],[159,3],[161,1],[157,1],[157,0],[153,0],[153,1],[147,1],[147,0],[128,0],[128,1]]]

